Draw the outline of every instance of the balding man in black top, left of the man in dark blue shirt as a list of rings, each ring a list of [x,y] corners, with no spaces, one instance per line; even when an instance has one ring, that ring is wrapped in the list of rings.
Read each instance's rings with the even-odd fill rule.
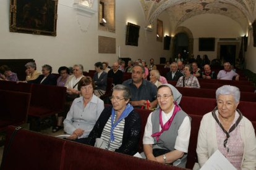
[[[122,84],[123,73],[119,70],[119,65],[117,62],[113,63],[113,69],[108,71],[108,78],[113,78],[113,84]]]

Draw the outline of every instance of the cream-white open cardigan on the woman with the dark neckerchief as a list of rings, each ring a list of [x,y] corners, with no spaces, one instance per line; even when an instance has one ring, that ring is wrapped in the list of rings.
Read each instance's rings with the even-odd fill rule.
[[[218,110],[217,110],[218,111]],[[237,113],[237,111],[236,111]],[[218,149],[215,119],[210,113],[203,116],[197,139],[197,157],[200,167]],[[241,119],[241,138],[244,142],[244,155],[241,169],[256,169],[256,137],[254,127],[249,119]]]

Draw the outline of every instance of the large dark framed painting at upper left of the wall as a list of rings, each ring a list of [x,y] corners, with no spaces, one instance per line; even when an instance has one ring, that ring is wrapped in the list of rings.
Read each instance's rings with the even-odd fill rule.
[[[56,36],[58,0],[10,0],[11,32]]]

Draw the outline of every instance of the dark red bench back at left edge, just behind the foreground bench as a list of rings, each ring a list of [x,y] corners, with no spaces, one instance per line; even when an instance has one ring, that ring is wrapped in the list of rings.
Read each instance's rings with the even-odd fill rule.
[[[26,123],[31,94],[0,90],[0,131]]]

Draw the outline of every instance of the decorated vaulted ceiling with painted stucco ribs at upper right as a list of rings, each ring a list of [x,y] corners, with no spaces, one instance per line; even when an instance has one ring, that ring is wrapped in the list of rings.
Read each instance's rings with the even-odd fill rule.
[[[145,12],[145,26],[164,10],[174,28],[195,15],[220,14],[246,29],[255,20],[255,0],[140,0]]]

